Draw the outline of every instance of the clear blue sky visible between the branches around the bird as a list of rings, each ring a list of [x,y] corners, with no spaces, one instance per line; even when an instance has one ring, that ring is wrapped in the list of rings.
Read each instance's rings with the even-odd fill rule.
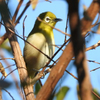
[[[20,13],[23,10],[23,8],[25,7],[25,4],[27,3],[27,1],[28,0],[24,0],[24,3],[22,4],[18,15],[20,15]],[[90,6],[91,2],[92,2],[92,0],[80,0],[80,4],[79,4],[80,19],[83,17],[83,5],[85,5],[88,8]],[[17,5],[18,5],[17,0],[10,0],[9,7],[10,7],[12,15],[14,14],[14,12],[16,10]],[[53,0],[52,3],[40,0],[39,3],[37,4],[35,10],[32,10],[32,7],[30,6],[27,9],[27,11],[24,13],[19,24],[16,26],[17,34],[20,36],[22,36],[22,34],[23,34],[22,25],[23,25],[23,19],[25,18],[26,15],[27,15],[27,18],[25,20],[25,36],[28,36],[29,32],[31,31],[31,29],[34,26],[35,20],[38,17],[38,15],[40,13],[46,12],[46,11],[51,11],[56,15],[57,18],[62,19],[62,21],[57,23],[55,27],[65,32],[66,20],[67,20],[67,14],[68,14],[68,4],[64,0]],[[97,29],[97,27],[95,27],[95,29]],[[3,26],[1,27],[0,33],[2,33],[2,34],[5,33]],[[69,26],[68,26],[67,33],[70,34]],[[56,45],[61,45],[64,43],[64,37],[65,37],[64,34],[54,30],[54,37],[55,37]],[[100,35],[92,34],[89,38],[86,38],[86,47],[89,47],[89,46],[97,43],[99,41],[99,39],[100,39]],[[18,42],[20,44],[20,47],[21,47],[21,50],[23,53],[24,42],[21,39],[18,39]],[[57,48],[56,48],[56,50],[57,50]],[[99,51],[100,51],[100,47],[97,47],[95,50],[90,50],[90,51],[86,52],[87,59],[100,62]],[[4,51],[4,53],[5,53],[6,57],[8,57],[8,58],[12,57],[10,54],[7,53],[7,51]],[[61,54],[62,54],[62,51],[60,51],[57,54],[57,56],[54,58],[54,60],[56,60],[58,57],[60,57]],[[12,61],[12,60],[7,60],[7,61],[9,61],[10,64],[14,64],[14,61]],[[5,64],[4,64],[4,66],[6,67]],[[88,66],[89,66],[89,70],[92,70],[94,68],[99,67],[100,65],[91,62],[91,63],[88,63]],[[15,68],[16,68],[16,66],[12,66],[12,69],[15,69]],[[74,74],[77,77],[76,68],[73,65],[73,61],[70,62],[69,66],[67,67],[67,70],[70,71],[72,74]],[[6,70],[6,71],[7,71],[7,73],[9,73],[8,70]],[[91,77],[92,87],[97,89],[100,93],[99,71],[100,71],[100,69],[90,72],[90,77]],[[17,79],[19,79],[17,70],[14,71],[14,73],[15,73],[15,76],[17,77]],[[46,77],[44,79],[42,79],[43,84],[46,81],[47,77],[48,77],[48,75],[46,75]],[[8,88],[7,90],[11,93],[11,95],[14,97],[15,100],[21,100],[18,92],[16,91],[15,84],[14,84],[14,81],[13,81],[11,75],[9,75],[6,78],[6,80],[13,82],[13,85],[11,86],[11,88]],[[17,80],[17,81],[19,81],[19,80]],[[68,86],[70,88],[70,90],[67,93],[64,100],[78,100],[77,90],[76,90],[78,81],[76,79],[74,79],[72,76],[70,76],[69,74],[67,74],[65,72],[63,77],[60,79],[59,83],[60,83],[60,87]],[[3,91],[3,100],[7,100],[7,99],[12,100],[11,97],[5,91]]]

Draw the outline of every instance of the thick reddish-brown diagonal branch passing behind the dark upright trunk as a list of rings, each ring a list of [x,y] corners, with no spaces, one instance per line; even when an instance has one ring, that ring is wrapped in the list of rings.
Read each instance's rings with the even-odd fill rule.
[[[92,20],[95,18],[98,12],[99,12],[99,4],[96,2],[95,3],[92,2],[91,6],[87,10],[87,13],[90,15]],[[81,27],[82,32],[85,32],[92,24],[92,21],[86,21],[84,18],[82,19],[81,22],[82,22],[82,27]],[[51,92],[53,91],[58,80],[64,74],[64,71],[73,56],[74,54],[73,54],[72,42],[69,42],[63,54],[61,55],[58,63],[52,68],[52,71],[47,81],[45,82],[44,86],[41,88],[41,90],[37,94],[36,100],[47,100],[49,98]]]

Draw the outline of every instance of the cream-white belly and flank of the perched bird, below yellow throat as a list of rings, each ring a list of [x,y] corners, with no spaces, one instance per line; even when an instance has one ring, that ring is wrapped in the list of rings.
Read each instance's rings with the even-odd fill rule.
[[[49,57],[52,57],[53,47],[52,45],[48,45],[48,42],[43,34],[40,34],[40,33],[33,34],[31,35],[31,38],[30,36],[28,37],[27,41],[30,42],[39,50],[41,50],[43,53],[48,55]],[[52,41],[51,41],[51,44],[52,44]],[[28,43],[25,44],[24,59],[26,62],[28,72],[31,76],[34,71],[33,69],[39,70],[40,68],[43,68],[49,60],[44,54],[36,50],[34,47],[29,45]],[[33,76],[34,76],[34,73],[33,73]]]

